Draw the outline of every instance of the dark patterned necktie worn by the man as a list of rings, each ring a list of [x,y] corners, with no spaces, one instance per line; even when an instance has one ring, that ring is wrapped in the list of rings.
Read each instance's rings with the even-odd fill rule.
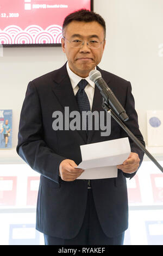
[[[82,79],[79,83],[79,90],[76,94],[76,99],[79,106],[80,115],[82,115],[83,111],[90,111],[90,102],[85,93],[85,87],[87,86],[88,82],[85,79]],[[86,130],[88,130],[88,120],[86,118]]]

